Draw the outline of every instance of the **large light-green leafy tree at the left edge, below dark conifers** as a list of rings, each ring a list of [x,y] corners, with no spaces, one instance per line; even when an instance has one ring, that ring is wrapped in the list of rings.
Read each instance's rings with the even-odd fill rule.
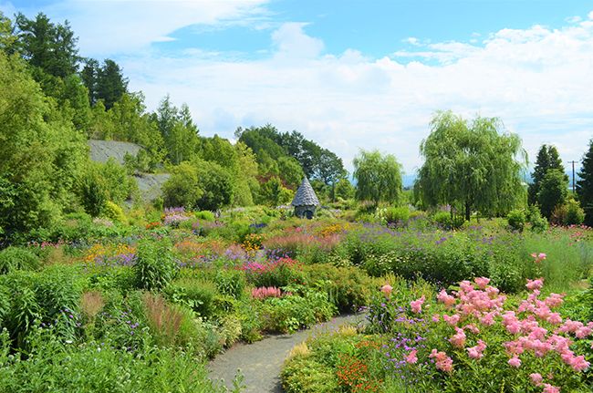
[[[88,160],[84,139],[23,61],[1,51],[0,157],[0,228],[8,236],[57,222]]]

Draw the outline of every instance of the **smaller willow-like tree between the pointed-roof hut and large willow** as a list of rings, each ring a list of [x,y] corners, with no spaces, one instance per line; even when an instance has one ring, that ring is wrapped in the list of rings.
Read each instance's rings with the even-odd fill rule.
[[[401,164],[391,154],[361,150],[354,158],[356,198],[359,201],[398,202],[401,196]]]

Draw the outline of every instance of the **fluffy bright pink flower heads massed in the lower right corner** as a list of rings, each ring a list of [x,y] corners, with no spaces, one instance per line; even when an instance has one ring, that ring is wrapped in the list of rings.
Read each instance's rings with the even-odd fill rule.
[[[477,335],[480,333],[478,326],[485,328],[500,322],[505,331],[513,336],[512,340],[503,344],[510,367],[521,367],[521,356],[525,353],[531,353],[535,357],[556,353],[574,371],[587,370],[590,366],[588,361],[570,349],[572,340],[568,335],[577,338],[591,336],[593,322],[586,325],[570,319],[563,320],[562,316],[553,310],[562,305],[564,295],[551,294],[542,300],[539,295],[543,285],[542,278],[527,280],[525,286],[530,291],[529,295],[515,311],[511,311],[505,310],[505,295],[500,295],[497,288],[490,286],[489,279],[476,278],[474,283],[463,281],[460,283],[460,290],[454,295],[447,294],[445,290],[437,295],[437,300],[447,309],[453,310],[454,314],[432,315],[432,321],[437,323],[442,318],[445,323],[453,326],[454,334],[449,338],[449,342],[459,349],[465,347],[468,339],[466,333]],[[416,302],[415,308],[419,309],[421,304],[418,304],[419,301]],[[471,321],[477,321],[477,326],[470,323]],[[477,340],[477,345],[465,350],[468,357],[479,360],[484,357],[486,347],[484,341]],[[430,357],[435,359],[437,369],[445,372],[453,369],[453,360],[444,352],[432,349]],[[543,377],[537,373],[531,374],[530,378],[537,387],[544,388],[544,392],[559,392],[559,388],[544,383]]]

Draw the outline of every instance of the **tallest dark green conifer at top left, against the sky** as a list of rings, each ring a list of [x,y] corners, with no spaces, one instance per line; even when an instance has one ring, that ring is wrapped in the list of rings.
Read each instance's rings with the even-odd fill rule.
[[[43,13],[37,14],[35,19],[19,13],[16,36],[17,50],[31,66],[57,78],[66,78],[77,71],[78,38],[68,21],[55,25]]]

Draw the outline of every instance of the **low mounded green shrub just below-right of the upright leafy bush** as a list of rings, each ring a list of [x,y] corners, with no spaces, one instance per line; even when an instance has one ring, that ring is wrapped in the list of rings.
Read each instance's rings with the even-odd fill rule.
[[[184,305],[197,315],[209,318],[214,314],[217,291],[210,281],[180,278],[165,289],[165,294],[173,303]]]

